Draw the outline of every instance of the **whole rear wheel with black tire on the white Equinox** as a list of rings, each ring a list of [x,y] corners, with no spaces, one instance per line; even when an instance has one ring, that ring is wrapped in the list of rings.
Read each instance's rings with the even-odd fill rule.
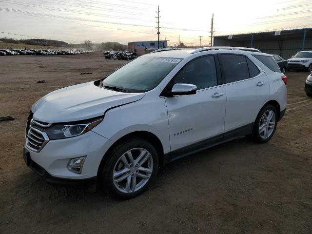
[[[271,117],[272,113],[273,116],[271,118],[271,121],[269,120],[269,123],[265,122],[267,117]],[[264,114],[266,117],[264,117]],[[252,139],[254,140],[254,142],[256,143],[268,142],[275,133],[277,120],[278,120],[277,111],[273,105],[266,105],[265,107],[263,107],[254,122],[254,129],[252,133]],[[261,130],[260,126],[263,126]]]

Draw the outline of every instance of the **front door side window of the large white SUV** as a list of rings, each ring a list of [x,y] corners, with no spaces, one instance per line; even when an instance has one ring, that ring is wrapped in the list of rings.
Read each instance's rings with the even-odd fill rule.
[[[216,86],[214,57],[201,57],[186,64],[173,79],[171,87],[177,83],[195,84],[197,90]]]

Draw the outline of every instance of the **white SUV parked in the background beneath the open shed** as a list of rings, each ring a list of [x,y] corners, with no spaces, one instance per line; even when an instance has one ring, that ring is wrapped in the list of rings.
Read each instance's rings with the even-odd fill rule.
[[[288,59],[288,70],[308,70],[312,71],[312,51],[299,51]]]

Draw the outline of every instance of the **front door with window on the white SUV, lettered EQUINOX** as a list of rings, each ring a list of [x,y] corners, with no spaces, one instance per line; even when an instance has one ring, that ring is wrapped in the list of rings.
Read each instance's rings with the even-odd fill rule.
[[[218,65],[218,64],[217,64]],[[191,60],[168,85],[195,84],[194,95],[165,98],[172,156],[181,157],[222,141],[226,93],[218,81],[214,56]]]

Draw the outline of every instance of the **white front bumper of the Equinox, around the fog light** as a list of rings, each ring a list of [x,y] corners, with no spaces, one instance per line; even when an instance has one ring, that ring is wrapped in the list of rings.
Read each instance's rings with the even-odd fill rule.
[[[113,143],[91,130],[78,137],[49,140],[40,152],[32,151],[27,145],[25,150],[29,153],[31,162],[28,166],[47,181],[55,178],[84,180],[98,175],[100,162]],[[87,156],[81,174],[69,171],[69,160],[81,156]]]

